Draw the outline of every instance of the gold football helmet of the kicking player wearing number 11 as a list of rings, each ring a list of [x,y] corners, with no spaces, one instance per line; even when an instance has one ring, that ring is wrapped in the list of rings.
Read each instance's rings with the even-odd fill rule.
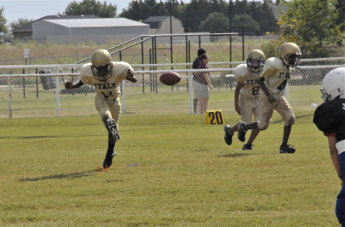
[[[98,49],[91,55],[91,70],[96,80],[105,82],[112,72],[111,55],[107,50]]]

